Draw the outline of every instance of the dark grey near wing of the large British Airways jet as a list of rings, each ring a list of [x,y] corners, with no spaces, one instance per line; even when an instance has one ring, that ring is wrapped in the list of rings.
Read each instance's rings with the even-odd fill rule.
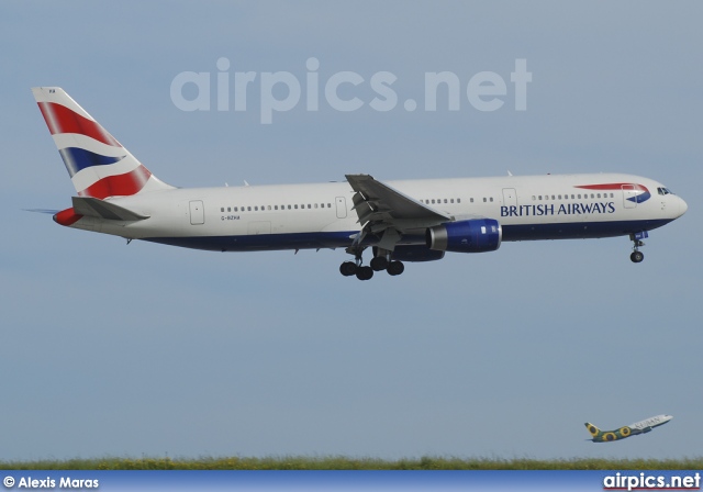
[[[378,234],[388,228],[402,233],[454,220],[451,215],[432,209],[372,176],[346,175],[346,178],[356,191],[352,199],[354,210],[367,233]]]

